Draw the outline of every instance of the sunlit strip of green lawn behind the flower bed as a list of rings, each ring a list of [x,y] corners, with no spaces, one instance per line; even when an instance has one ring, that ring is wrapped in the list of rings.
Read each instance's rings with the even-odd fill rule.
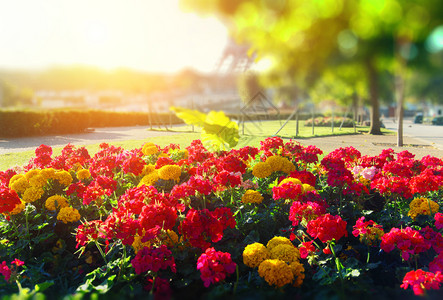
[[[343,134],[358,134],[362,132],[368,132],[369,127],[358,126],[355,130],[354,128],[342,128],[337,127],[332,130],[331,127],[315,127],[314,134],[312,134],[312,127],[304,126],[304,122],[299,122],[299,132],[296,136],[296,122],[289,121],[280,131],[279,129],[284,124],[282,121],[257,121],[251,123],[245,123],[243,128],[242,125],[239,126],[240,140],[235,148],[241,148],[244,146],[259,147],[260,141],[264,140],[266,137],[277,135],[283,139],[290,138],[312,138],[330,135],[343,135]],[[165,129],[155,129],[156,131],[165,131]],[[149,141],[153,142],[160,147],[164,147],[171,143],[179,144],[180,147],[184,148],[189,146],[191,141],[200,138],[199,128],[195,127],[194,132],[191,126],[178,126],[173,127],[169,131],[178,132],[180,134],[171,136],[158,136],[150,138]],[[276,134],[278,132],[278,134]],[[382,129],[384,134],[395,134],[392,131]],[[110,141],[109,144],[114,146],[121,146],[124,149],[134,149],[141,147],[147,140],[127,140],[127,141]],[[89,154],[93,156],[99,149],[99,144],[85,145],[88,149]],[[62,148],[53,148],[53,156],[59,155]],[[0,155],[0,170],[4,171],[8,168],[14,166],[23,166],[28,163],[28,161],[34,157],[34,151],[24,151],[24,152],[14,152]]]

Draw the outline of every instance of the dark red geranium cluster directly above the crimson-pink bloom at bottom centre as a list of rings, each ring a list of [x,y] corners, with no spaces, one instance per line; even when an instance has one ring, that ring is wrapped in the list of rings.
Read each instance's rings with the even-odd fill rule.
[[[179,226],[179,232],[193,247],[206,250],[211,242],[216,243],[223,238],[223,231],[236,225],[229,208],[196,210],[191,208]]]

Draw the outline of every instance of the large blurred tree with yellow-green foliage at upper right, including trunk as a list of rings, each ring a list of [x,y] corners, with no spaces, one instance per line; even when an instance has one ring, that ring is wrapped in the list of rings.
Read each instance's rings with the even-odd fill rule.
[[[269,84],[312,87],[339,57],[366,73],[371,134],[381,134],[379,75],[395,70],[398,89],[415,44],[441,24],[440,0],[182,0],[218,14],[239,42],[274,62]],[[395,67],[395,64],[397,67]],[[288,82],[289,81],[289,82]],[[404,93],[397,93],[404,95]],[[402,100],[402,99],[401,99]],[[401,102],[401,101],[399,101]]]

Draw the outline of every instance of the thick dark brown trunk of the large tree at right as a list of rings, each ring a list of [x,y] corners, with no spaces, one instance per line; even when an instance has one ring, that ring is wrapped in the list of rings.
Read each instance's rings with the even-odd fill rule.
[[[369,134],[381,135],[382,133],[380,130],[380,105],[378,103],[378,74],[372,59],[369,59],[366,62],[366,70],[368,72],[369,101],[371,103],[371,108],[370,108],[371,127],[369,128]]]

